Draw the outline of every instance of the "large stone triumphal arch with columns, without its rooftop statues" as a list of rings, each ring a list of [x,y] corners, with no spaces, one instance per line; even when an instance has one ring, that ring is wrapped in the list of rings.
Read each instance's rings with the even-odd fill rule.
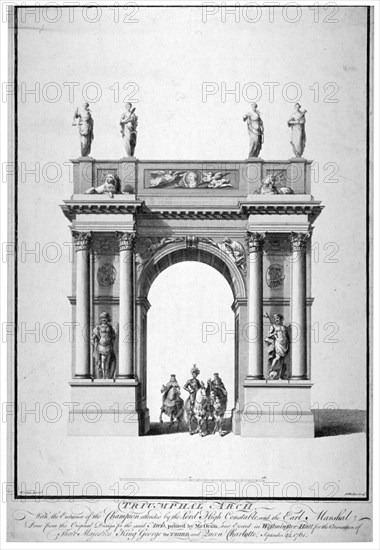
[[[191,260],[217,269],[234,297],[233,432],[313,437],[311,239],[322,206],[310,192],[311,161],[72,162],[73,195],[62,209],[76,251],[70,386],[79,405],[69,433],[148,432],[148,293],[164,269]],[[276,359],[282,324],[289,345]],[[108,344],[96,355],[102,330]],[[95,422],[83,414],[92,403]]]

